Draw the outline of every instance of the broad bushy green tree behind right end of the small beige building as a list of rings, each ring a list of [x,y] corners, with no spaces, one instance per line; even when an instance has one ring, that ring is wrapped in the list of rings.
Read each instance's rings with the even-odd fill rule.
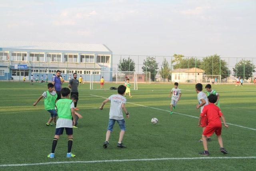
[[[222,78],[226,78],[230,73],[227,65],[225,60],[221,60],[220,56],[215,54],[203,58],[200,69],[204,70],[206,75],[221,75]]]

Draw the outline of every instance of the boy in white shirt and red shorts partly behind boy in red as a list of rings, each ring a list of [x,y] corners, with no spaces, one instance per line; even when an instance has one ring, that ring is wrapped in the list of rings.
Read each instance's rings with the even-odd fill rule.
[[[202,113],[204,106],[208,105],[208,99],[207,96],[204,92],[202,92],[203,90],[203,85],[201,83],[196,84],[196,93],[197,93],[197,99],[198,99],[198,105],[196,105],[196,109],[200,108],[200,113]],[[205,129],[207,125],[207,119],[206,117],[204,117],[201,120],[201,127],[203,128],[203,131]],[[211,139],[208,138],[208,141],[210,141]],[[199,142],[202,142],[202,139],[199,140]]]

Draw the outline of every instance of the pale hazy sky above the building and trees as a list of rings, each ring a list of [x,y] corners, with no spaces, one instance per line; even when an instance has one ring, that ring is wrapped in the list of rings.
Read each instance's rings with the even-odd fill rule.
[[[1,0],[0,39],[113,54],[256,57],[255,0]]]

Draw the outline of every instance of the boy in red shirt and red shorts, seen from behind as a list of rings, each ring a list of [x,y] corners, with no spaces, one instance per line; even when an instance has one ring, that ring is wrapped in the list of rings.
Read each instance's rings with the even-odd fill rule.
[[[210,94],[207,98],[208,98],[209,104],[204,106],[204,109],[201,112],[199,121],[198,121],[198,125],[200,126],[201,119],[203,117],[206,117],[208,120],[208,124],[202,133],[204,151],[199,154],[200,155],[209,155],[206,137],[210,137],[214,132],[218,137],[218,142],[220,144],[220,151],[223,154],[227,154],[228,152],[223,147],[223,143],[222,143],[222,137],[221,137],[222,123],[221,123],[220,117],[223,120],[223,123],[226,128],[228,128],[228,125],[226,124],[226,120],[224,118],[224,115],[220,111],[220,108],[214,104],[214,103],[216,103],[218,97],[214,94]]]

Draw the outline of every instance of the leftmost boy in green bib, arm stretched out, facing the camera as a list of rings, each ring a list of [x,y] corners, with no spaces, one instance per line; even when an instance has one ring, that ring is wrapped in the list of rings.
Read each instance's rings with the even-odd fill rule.
[[[56,125],[56,117],[57,117],[57,112],[55,110],[55,101],[58,97],[54,89],[54,85],[52,83],[49,83],[48,85],[48,90],[44,91],[44,93],[37,99],[37,101],[33,104],[36,106],[36,104],[44,98],[44,109],[46,109],[50,114],[51,117],[46,123],[47,126],[52,126],[51,122],[53,121],[53,124]]]

